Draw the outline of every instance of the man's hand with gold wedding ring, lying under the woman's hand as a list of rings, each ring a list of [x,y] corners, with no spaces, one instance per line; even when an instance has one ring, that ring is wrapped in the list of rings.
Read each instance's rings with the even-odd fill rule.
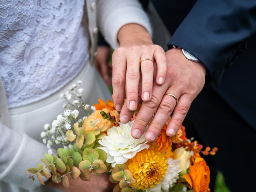
[[[151,100],[142,102],[132,127],[134,138],[140,138],[155,112],[148,130],[146,130],[146,140],[152,142],[156,139],[172,112],[172,119],[168,124],[166,134],[168,136],[176,134],[190,104],[204,87],[206,70],[200,62],[187,60],[182,54],[182,50],[176,48],[166,52],[166,59],[166,81],[162,86],[158,86],[154,82]],[[164,95],[166,92],[176,96],[178,103],[172,96]],[[127,108],[123,108],[120,114],[121,121],[124,115],[130,119],[132,113]]]

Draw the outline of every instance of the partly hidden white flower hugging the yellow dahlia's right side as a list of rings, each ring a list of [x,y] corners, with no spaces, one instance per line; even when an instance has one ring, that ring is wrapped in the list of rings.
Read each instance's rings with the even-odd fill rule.
[[[179,178],[180,160],[168,159],[168,168],[164,178],[159,184],[156,184],[153,188],[149,188],[146,192],[169,192],[169,189],[174,186]]]

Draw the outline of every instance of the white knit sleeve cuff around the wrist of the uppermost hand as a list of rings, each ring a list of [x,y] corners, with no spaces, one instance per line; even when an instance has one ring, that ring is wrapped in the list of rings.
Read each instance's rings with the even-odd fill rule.
[[[120,7],[110,11],[104,20],[103,34],[112,48],[119,47],[117,35],[120,28],[131,23],[143,26],[152,35],[149,19],[142,9],[133,6]]]

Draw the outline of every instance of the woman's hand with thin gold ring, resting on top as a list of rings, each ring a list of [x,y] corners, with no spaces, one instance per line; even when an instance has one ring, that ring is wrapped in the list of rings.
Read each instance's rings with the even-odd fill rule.
[[[164,50],[154,45],[150,34],[138,24],[127,24],[118,32],[120,47],[113,53],[113,100],[116,110],[120,111],[126,98],[127,108],[131,111],[138,106],[138,86],[140,68],[142,73],[141,99],[147,102],[152,96],[153,62],[140,60],[150,58],[157,64],[156,83],[162,85],[166,78],[166,56]],[[126,96],[125,96],[126,92]]]

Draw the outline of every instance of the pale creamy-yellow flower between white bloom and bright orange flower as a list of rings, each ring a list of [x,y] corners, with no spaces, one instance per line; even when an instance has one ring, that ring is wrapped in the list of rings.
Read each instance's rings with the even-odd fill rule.
[[[180,148],[177,148],[176,150],[174,150],[173,159],[180,160],[180,168],[179,169],[182,170],[180,172],[181,174],[187,173],[187,169],[190,164],[190,157],[191,157],[190,152],[185,150],[184,147],[180,147]]]

